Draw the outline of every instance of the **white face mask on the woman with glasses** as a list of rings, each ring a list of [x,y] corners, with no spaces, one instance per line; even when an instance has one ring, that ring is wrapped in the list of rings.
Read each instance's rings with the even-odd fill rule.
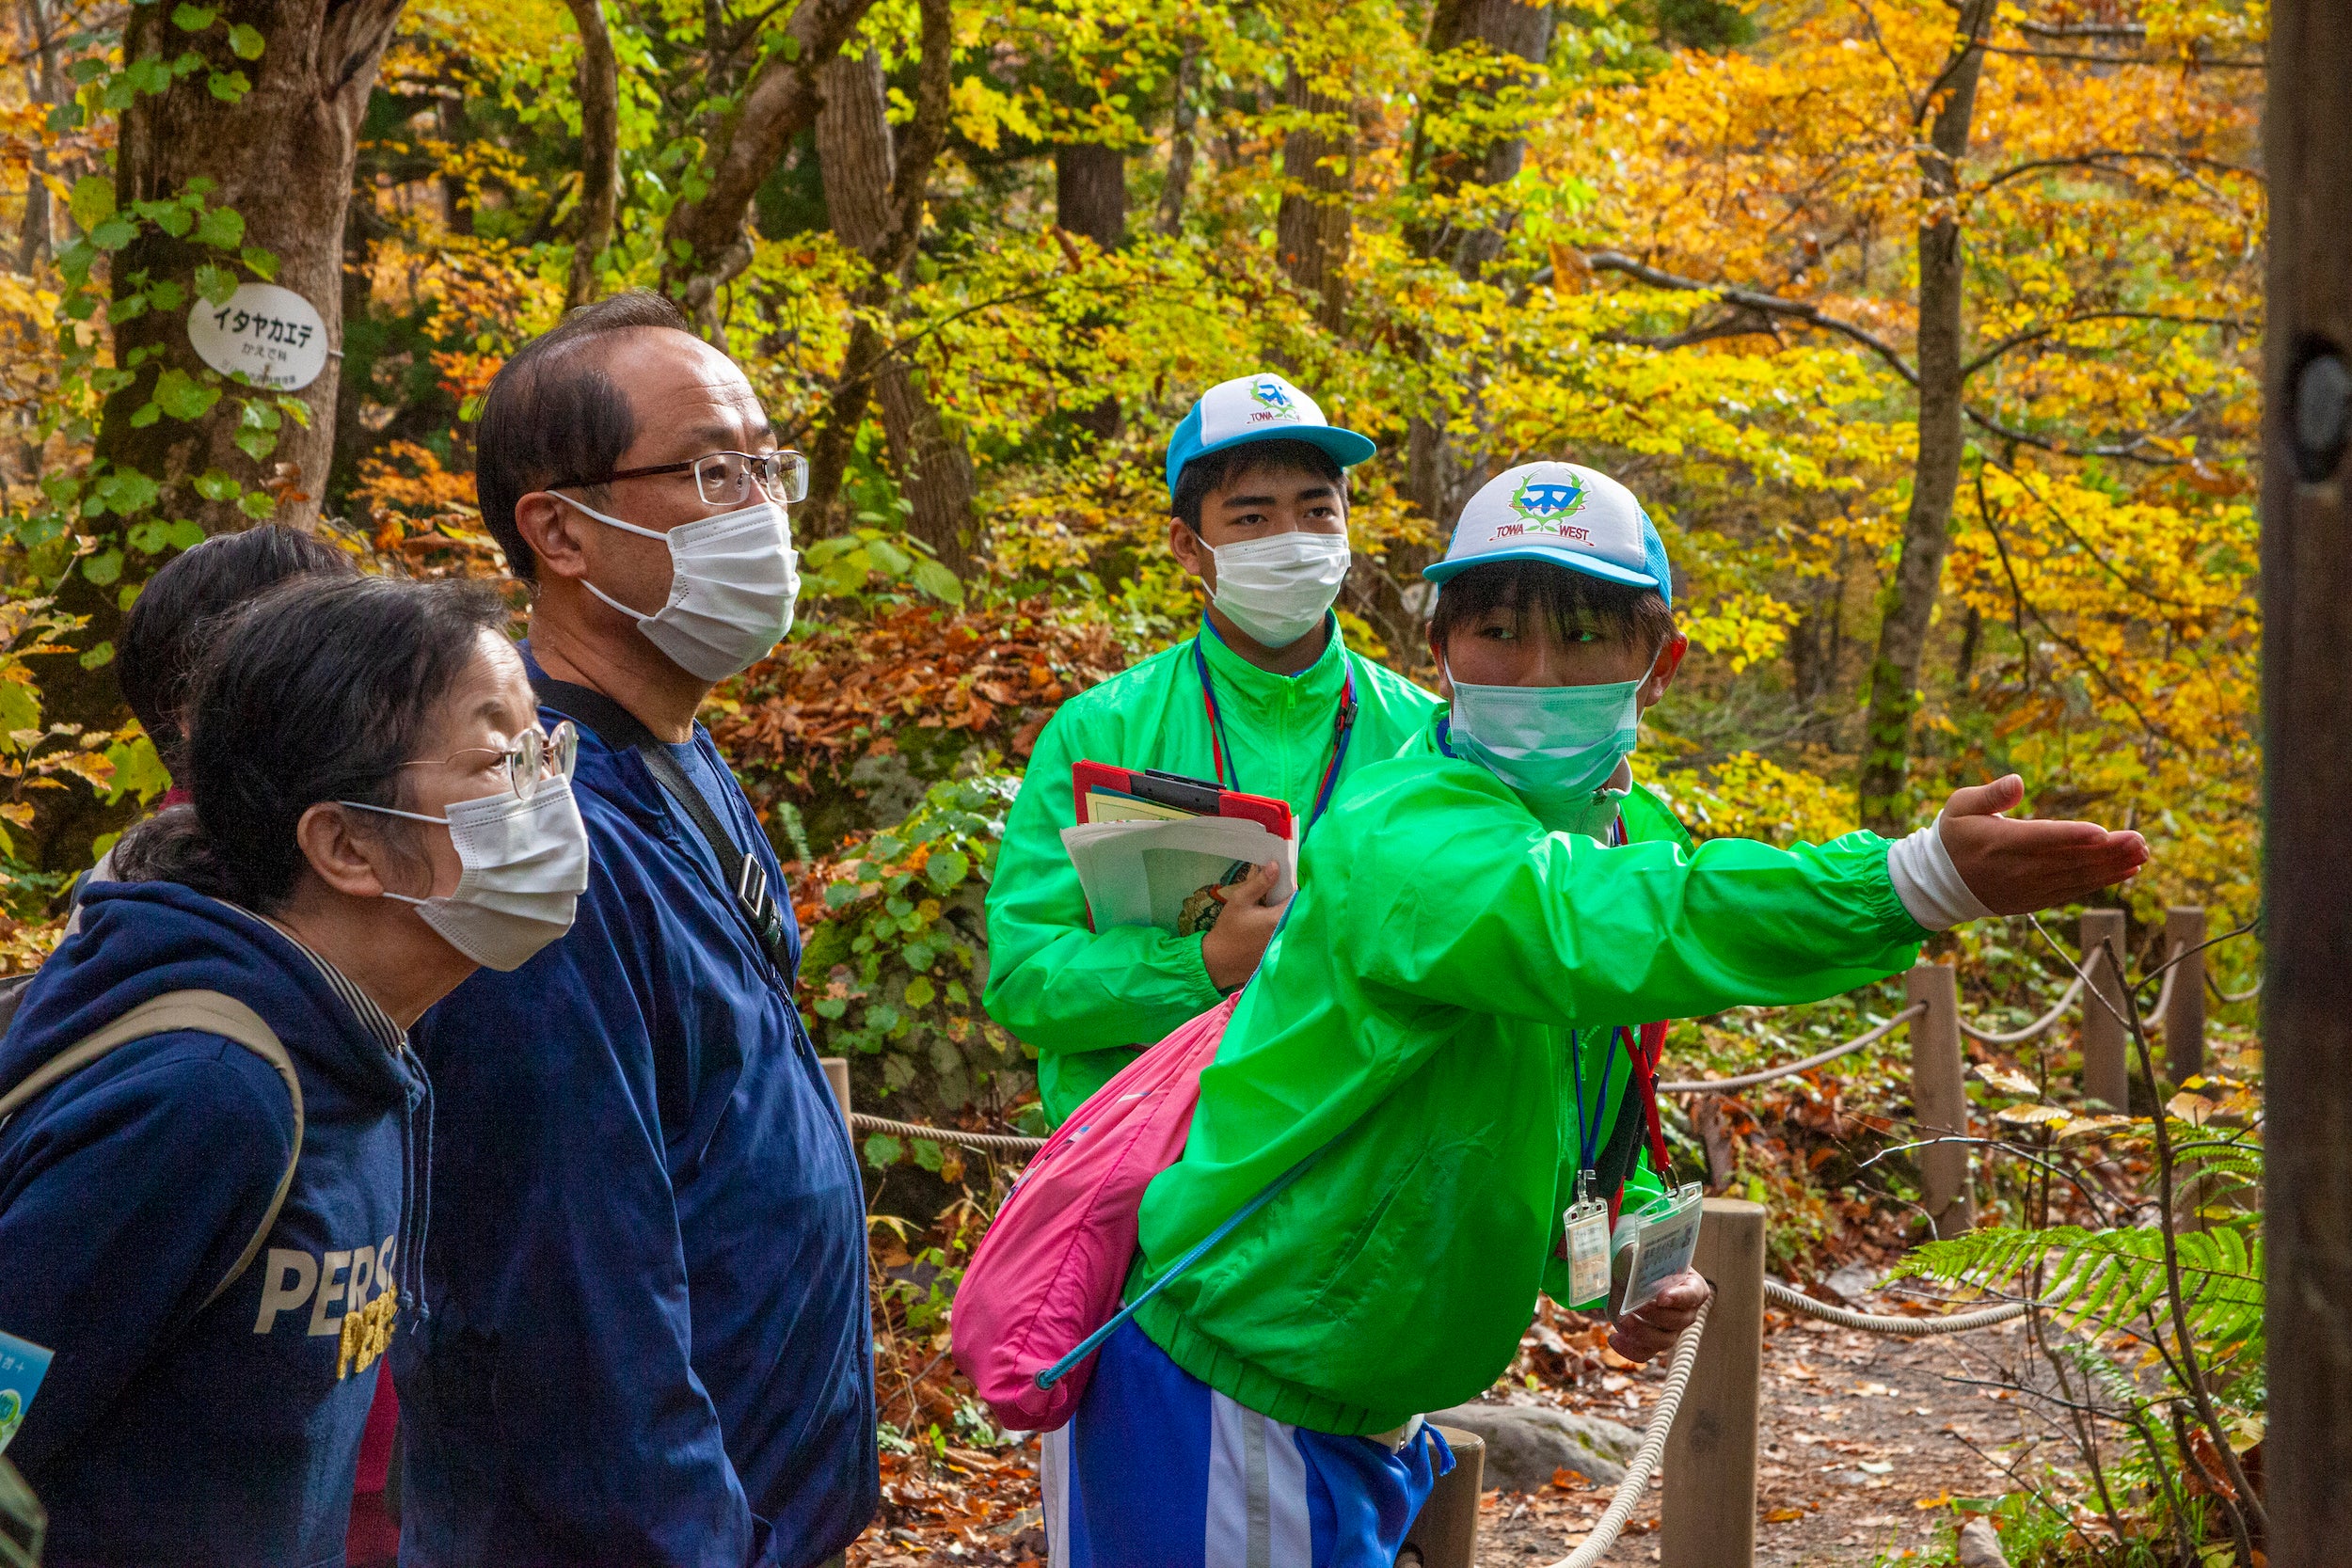
[[[548,778],[532,799],[515,799],[513,790],[461,799],[447,816],[355,799],[339,804],[449,827],[456,860],[466,867],[456,889],[433,898],[386,898],[416,905],[416,914],[475,964],[522,969],[572,929],[572,912],[588,891],[588,827],[572,799],[572,780]]]

